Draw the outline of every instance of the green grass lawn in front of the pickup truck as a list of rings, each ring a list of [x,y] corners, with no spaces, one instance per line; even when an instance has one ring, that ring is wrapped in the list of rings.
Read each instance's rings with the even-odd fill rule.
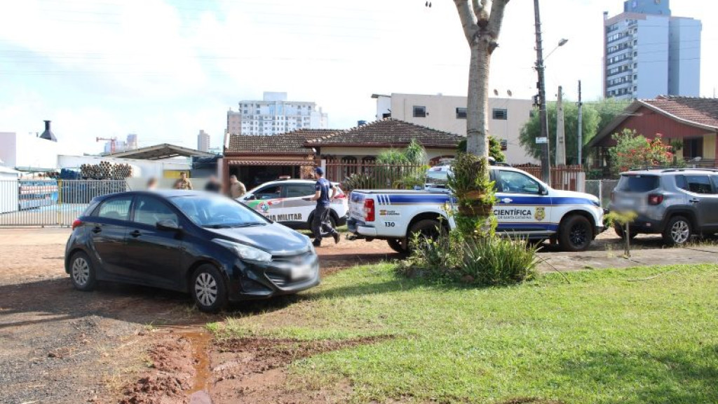
[[[718,265],[567,276],[473,289],[356,267],[296,303],[211,328],[394,336],[292,364],[300,382],[347,378],[358,403],[718,403]]]

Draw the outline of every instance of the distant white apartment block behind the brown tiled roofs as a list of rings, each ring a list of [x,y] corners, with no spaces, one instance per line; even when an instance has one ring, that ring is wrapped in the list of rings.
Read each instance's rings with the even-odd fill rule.
[[[228,134],[280,134],[325,129],[327,114],[314,102],[287,101],[286,93],[265,92],[261,101],[240,101],[227,112]]]

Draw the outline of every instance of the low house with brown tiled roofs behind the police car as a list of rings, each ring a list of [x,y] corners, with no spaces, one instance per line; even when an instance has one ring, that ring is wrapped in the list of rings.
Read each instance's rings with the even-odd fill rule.
[[[337,170],[332,180],[343,180],[376,162],[385,150],[403,149],[416,139],[426,149],[427,164],[456,155],[464,137],[398,119],[381,119],[350,129],[297,129],[275,135],[228,134],[225,139],[223,178],[237,175],[248,188],[280,176],[308,178],[320,165]],[[342,167],[337,167],[342,165]]]

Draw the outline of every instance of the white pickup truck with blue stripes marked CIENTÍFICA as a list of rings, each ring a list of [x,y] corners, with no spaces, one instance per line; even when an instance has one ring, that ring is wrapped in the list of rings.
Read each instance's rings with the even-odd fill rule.
[[[354,190],[349,200],[349,231],[367,240],[384,239],[397,252],[409,249],[414,233],[435,234],[439,226],[454,228],[446,206],[455,199],[445,188],[450,168],[433,167],[426,190]],[[584,251],[604,230],[600,201],[595,196],[555,190],[513,167],[492,166],[498,203],[493,214],[497,231],[532,240],[551,239],[566,251]],[[450,216],[450,215],[448,215]]]

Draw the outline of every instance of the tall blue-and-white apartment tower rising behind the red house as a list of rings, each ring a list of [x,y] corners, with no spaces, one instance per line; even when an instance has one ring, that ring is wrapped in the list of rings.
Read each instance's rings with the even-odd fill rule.
[[[669,5],[629,0],[623,13],[604,13],[606,98],[699,96],[702,25]]]

